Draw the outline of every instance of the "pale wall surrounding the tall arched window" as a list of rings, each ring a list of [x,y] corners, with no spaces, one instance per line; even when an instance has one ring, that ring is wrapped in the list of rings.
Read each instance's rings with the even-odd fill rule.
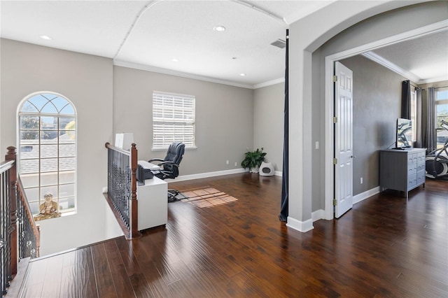
[[[78,213],[39,222],[41,255],[120,234],[109,223],[106,229],[110,221],[102,196],[104,143],[112,138],[112,71],[111,59],[1,39],[2,146],[16,146],[17,108],[32,92],[62,94],[78,113]]]

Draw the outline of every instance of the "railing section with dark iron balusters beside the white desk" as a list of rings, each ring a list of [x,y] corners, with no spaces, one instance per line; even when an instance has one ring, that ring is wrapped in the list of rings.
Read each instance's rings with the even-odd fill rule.
[[[106,143],[107,194],[106,201],[120,224],[126,239],[141,236],[138,224],[137,146],[130,151]]]

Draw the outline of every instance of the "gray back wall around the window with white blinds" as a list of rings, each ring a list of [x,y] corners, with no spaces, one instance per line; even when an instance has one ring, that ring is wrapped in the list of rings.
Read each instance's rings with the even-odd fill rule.
[[[196,98],[197,149],[186,150],[181,176],[241,169],[246,148],[253,148],[253,90],[114,66],[113,132],[134,133],[139,159],[166,153],[151,150],[153,91]]]

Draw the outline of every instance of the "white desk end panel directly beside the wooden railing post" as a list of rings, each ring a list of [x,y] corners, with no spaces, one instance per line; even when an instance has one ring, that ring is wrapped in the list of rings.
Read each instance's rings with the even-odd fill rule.
[[[137,185],[139,231],[166,225],[168,221],[168,183],[154,176]]]

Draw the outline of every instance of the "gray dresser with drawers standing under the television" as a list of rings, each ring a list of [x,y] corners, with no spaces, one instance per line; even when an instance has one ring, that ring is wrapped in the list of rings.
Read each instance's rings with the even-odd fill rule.
[[[399,190],[406,193],[425,186],[425,148],[379,151],[379,190]]]

